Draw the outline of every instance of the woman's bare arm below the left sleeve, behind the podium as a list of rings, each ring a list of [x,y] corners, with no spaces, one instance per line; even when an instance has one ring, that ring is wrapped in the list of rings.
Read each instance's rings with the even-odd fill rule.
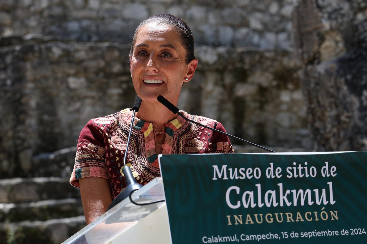
[[[104,214],[112,202],[108,180],[102,177],[79,179],[81,202],[87,225]]]

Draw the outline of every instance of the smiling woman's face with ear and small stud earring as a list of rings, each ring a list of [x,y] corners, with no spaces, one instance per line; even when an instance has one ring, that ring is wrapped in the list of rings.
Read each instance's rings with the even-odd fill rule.
[[[169,25],[149,23],[140,27],[130,61],[134,88],[144,102],[163,95],[177,104],[183,82],[192,78],[197,60],[185,63],[186,50]],[[185,78],[188,78],[186,81]]]

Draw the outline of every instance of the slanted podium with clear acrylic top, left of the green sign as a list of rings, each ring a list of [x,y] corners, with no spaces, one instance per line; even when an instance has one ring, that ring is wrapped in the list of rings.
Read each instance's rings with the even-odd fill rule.
[[[163,182],[158,177],[135,191],[137,203],[164,199]],[[124,199],[62,244],[171,243],[165,202],[145,206]]]

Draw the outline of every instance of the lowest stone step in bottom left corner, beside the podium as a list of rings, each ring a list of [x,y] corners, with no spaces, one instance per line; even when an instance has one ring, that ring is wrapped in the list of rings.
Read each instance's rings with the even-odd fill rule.
[[[0,223],[0,243],[60,244],[84,226],[86,226],[84,215],[47,221]]]

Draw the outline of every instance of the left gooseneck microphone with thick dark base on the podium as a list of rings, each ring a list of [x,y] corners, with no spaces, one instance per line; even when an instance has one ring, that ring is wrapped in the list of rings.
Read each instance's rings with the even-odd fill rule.
[[[114,207],[117,203],[129,197],[132,191],[136,191],[142,187],[142,185],[139,184],[137,180],[135,180],[134,176],[132,176],[131,168],[126,166],[126,156],[127,156],[127,149],[130,143],[132,123],[134,122],[135,112],[139,111],[140,105],[141,105],[141,98],[140,97],[135,98],[134,106],[132,106],[131,125],[124,155],[124,168],[122,169],[122,172],[124,173],[125,177],[126,187],[123,189],[123,191],[119,193],[119,195],[116,196],[115,199],[113,199],[113,201],[108,206],[107,211],[112,209],[112,207]]]

